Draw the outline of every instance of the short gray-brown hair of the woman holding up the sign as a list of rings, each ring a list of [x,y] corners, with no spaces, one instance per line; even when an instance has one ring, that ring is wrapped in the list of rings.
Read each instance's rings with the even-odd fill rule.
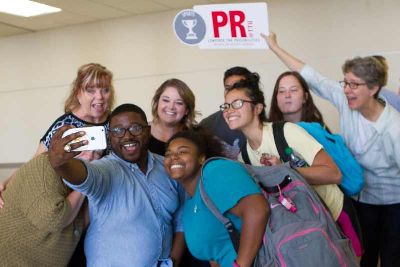
[[[373,95],[375,99],[378,98],[386,79],[386,71],[379,60],[374,57],[355,57],[346,60],[341,68],[343,74],[352,72],[355,76],[364,80],[370,90],[378,86],[378,91]]]

